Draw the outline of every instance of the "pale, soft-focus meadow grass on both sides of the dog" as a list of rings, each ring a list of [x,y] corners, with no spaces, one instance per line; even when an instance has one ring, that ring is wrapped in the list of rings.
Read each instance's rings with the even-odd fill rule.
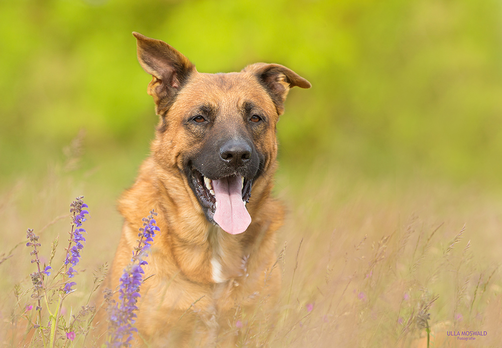
[[[277,319],[244,335],[240,346],[426,347],[428,339],[429,346],[499,346],[502,210],[496,196],[431,180],[368,180],[319,164],[298,170],[284,167],[276,180],[276,196],[288,209],[277,238],[283,273]],[[19,179],[0,195],[1,342],[43,346],[23,341],[33,324],[27,306],[36,305],[26,230],[40,236],[42,264],[52,259],[53,269],[59,267],[64,247],[54,241],[65,244],[68,204],[85,195],[86,244],[59,325],[69,327],[74,315],[83,319],[74,340],[64,330],[55,337],[55,346],[82,346],[92,329],[92,314],[85,312],[90,294],[120,234],[118,192],[92,175],[76,175],[67,163],[37,177]],[[460,340],[466,336],[454,333],[462,331],[486,335]]]

